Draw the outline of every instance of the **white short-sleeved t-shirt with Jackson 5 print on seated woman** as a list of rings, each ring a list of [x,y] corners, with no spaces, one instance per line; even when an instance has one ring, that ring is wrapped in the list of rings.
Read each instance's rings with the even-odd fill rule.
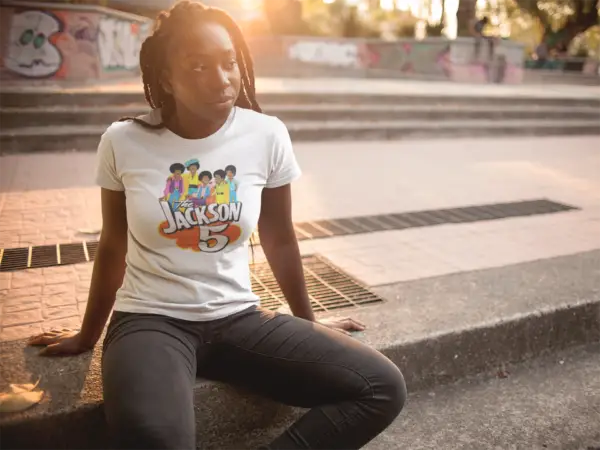
[[[141,118],[158,123],[160,111]],[[261,193],[299,176],[283,122],[254,111],[234,108],[205,139],[112,124],[98,148],[97,182],[125,191],[127,202],[115,310],[205,321],[257,304],[248,242]]]

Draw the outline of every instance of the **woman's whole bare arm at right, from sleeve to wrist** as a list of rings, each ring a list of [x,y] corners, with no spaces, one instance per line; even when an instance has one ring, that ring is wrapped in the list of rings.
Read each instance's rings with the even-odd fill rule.
[[[314,322],[315,316],[306,291],[300,249],[292,223],[292,193],[289,184],[263,190],[258,234],[267,261],[290,309],[296,317]]]

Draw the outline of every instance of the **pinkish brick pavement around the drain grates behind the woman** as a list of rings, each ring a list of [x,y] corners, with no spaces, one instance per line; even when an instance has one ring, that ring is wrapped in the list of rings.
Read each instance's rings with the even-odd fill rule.
[[[297,145],[304,169],[294,186],[297,221],[542,197],[582,208],[305,241],[301,249],[368,285],[598,249],[599,147],[597,137]],[[1,158],[2,246],[78,241],[80,229],[99,227],[93,161],[71,153]],[[0,273],[0,341],[79,325],[91,268]]]

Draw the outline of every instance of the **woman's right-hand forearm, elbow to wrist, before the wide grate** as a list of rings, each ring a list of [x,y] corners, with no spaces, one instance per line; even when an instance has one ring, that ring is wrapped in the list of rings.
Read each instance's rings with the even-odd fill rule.
[[[260,239],[275,279],[279,283],[292,313],[296,317],[314,322],[315,315],[306,290],[302,258],[295,236],[293,239],[279,243],[269,242],[269,238],[263,238],[262,235]]]

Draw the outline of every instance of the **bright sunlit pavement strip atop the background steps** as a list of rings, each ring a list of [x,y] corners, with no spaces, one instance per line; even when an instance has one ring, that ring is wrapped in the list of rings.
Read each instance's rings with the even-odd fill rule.
[[[93,86],[57,86],[18,87],[27,91],[48,91],[61,89],[66,92],[132,92],[141,91],[140,80],[107,82]],[[12,91],[15,86],[0,87],[2,91]],[[523,96],[552,98],[600,98],[600,86],[575,86],[562,84],[543,85],[501,85],[501,84],[465,84],[446,81],[416,81],[396,79],[356,79],[356,78],[258,78],[256,90],[260,93],[369,93],[369,94],[410,94],[431,96]]]

